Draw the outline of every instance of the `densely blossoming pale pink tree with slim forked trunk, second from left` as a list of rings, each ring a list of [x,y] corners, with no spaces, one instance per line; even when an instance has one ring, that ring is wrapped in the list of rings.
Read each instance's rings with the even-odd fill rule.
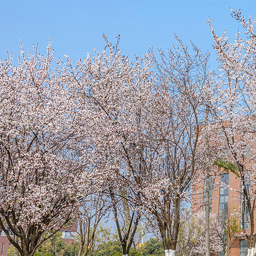
[[[60,60],[60,73],[77,102],[79,159],[91,161],[98,177],[95,182],[102,184],[102,191],[110,195],[122,253],[126,255],[140,219],[140,195],[131,172],[138,165],[134,157],[138,138],[135,113],[145,103],[143,99],[150,99],[152,83],[148,57],[132,62],[106,37],[105,41],[101,53],[96,52],[93,57],[88,54],[76,66],[68,57],[67,63]],[[89,160],[84,160],[88,156]]]

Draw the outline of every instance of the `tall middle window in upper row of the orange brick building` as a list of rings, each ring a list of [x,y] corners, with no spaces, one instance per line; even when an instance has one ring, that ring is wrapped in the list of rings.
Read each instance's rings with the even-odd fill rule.
[[[228,179],[229,174],[220,175],[220,199],[219,199],[219,218],[226,219],[228,216]]]

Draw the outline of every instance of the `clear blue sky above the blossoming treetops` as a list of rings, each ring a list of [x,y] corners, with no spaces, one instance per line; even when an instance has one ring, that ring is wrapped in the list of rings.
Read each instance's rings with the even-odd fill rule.
[[[234,36],[239,24],[231,18],[229,7],[241,9],[246,17],[256,16],[256,1],[242,0],[0,0],[0,59],[6,58],[7,50],[16,58],[20,39],[25,51],[38,42],[44,54],[51,36],[55,59],[66,54],[75,62],[93,53],[93,48],[101,51],[103,33],[113,44],[120,34],[123,54],[141,56],[148,45],[171,48],[176,33],[185,44],[192,40],[212,52],[213,60],[213,40],[205,19],[211,17],[219,35],[226,30]]]

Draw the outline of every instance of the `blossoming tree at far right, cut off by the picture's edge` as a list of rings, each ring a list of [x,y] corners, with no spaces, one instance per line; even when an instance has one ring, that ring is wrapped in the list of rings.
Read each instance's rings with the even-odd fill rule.
[[[219,108],[215,110],[218,117],[214,125],[216,137],[212,139],[219,142],[220,149],[228,152],[228,156],[218,162],[219,166],[241,179],[241,190],[237,190],[241,193],[241,223],[248,242],[248,255],[254,255],[256,20],[249,17],[246,21],[240,10],[232,11],[232,16],[245,30],[245,38],[239,32],[233,43],[225,32],[218,37],[211,20],[208,20],[219,61],[220,74],[216,83],[221,88]],[[250,224],[249,228],[245,225],[246,221]]]

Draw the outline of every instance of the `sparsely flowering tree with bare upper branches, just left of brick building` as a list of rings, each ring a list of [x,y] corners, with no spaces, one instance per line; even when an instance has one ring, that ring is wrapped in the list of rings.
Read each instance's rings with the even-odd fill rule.
[[[194,46],[195,56],[191,56],[178,41],[180,48],[169,51],[168,56],[161,52],[161,63],[154,53],[148,54],[151,62],[146,63],[155,65],[155,76],[148,79],[146,74],[147,79],[137,87],[126,84],[127,96],[118,93],[123,99],[118,106],[125,102],[118,117],[125,117],[122,120],[129,129],[125,131],[118,123],[122,130],[114,157],[126,170],[119,176],[129,181],[141,207],[154,216],[166,255],[175,253],[180,211],[190,201],[191,181],[201,161],[199,135],[209,87],[208,54],[203,55]],[[114,159],[112,166],[117,164]]]

